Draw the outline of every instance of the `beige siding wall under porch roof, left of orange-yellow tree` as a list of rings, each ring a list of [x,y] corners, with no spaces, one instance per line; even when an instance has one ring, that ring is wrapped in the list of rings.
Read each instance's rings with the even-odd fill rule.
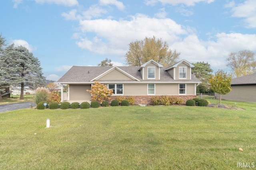
[[[91,100],[91,94],[86,92],[86,90],[91,90],[89,84],[70,84],[69,100]]]

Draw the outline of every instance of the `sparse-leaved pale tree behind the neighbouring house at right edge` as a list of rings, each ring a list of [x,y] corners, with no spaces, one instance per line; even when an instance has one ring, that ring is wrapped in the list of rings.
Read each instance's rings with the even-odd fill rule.
[[[256,72],[254,52],[250,50],[229,53],[227,61],[227,66],[230,66],[235,77],[246,76]]]

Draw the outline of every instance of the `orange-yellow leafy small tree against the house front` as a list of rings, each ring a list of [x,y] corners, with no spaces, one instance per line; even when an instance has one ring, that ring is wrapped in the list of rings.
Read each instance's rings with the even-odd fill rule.
[[[100,82],[94,82],[91,90],[86,90],[86,92],[92,94],[92,100],[97,100],[98,102],[103,102],[105,99],[109,99],[113,94],[112,89],[108,89],[107,86]]]

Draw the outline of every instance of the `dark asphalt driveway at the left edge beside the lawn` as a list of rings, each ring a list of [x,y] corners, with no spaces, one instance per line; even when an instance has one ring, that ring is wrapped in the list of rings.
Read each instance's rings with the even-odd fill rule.
[[[14,104],[3,104],[0,105],[0,113],[6,111],[12,111],[17,109],[25,109],[28,107],[36,106],[34,102],[23,102],[23,103],[14,103]]]

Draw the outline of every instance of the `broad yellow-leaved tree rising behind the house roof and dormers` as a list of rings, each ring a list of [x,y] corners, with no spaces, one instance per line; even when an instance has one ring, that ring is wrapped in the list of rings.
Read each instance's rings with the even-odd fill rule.
[[[147,61],[154,61],[170,66],[177,62],[180,53],[171,50],[166,41],[146,37],[144,40],[132,42],[129,44],[129,50],[126,53],[126,64],[133,66],[141,66]]]

